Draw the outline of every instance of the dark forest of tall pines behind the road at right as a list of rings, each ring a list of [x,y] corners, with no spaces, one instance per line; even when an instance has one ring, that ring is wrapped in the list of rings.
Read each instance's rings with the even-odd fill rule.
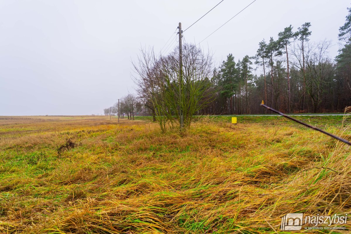
[[[306,22],[293,32],[290,25],[276,40],[259,42],[256,55],[237,62],[229,54],[214,69],[216,97],[201,113],[266,113],[261,101],[287,113],[343,112],[351,104],[350,42],[334,60],[328,53],[331,41],[310,42],[310,26]],[[253,63],[263,74],[253,74]]]

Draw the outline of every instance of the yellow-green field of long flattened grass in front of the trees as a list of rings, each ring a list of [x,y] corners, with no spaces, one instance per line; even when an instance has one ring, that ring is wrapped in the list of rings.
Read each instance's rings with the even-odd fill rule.
[[[351,139],[343,116],[296,118]],[[245,116],[163,134],[143,119],[0,117],[0,233],[294,233],[286,213],[351,212],[350,147],[322,133]]]

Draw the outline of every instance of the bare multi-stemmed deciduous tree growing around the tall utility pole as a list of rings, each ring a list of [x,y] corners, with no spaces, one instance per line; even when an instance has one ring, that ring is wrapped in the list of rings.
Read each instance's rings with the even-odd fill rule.
[[[179,98],[183,98],[184,125],[189,127],[193,116],[211,100],[212,56],[193,44],[183,45],[183,95],[179,95],[179,53],[156,57],[153,48],[141,49],[133,63],[133,80],[139,98],[154,113],[162,131],[174,127],[179,119]]]

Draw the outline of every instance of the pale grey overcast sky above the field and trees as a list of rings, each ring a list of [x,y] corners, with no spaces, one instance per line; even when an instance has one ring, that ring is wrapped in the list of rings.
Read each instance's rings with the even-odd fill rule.
[[[131,61],[140,46],[159,51],[220,0],[1,0],[0,115],[91,115],[134,92]],[[224,0],[185,33],[200,42],[252,0]],[[290,24],[311,22],[311,41],[332,40],[347,0],[257,0],[201,46],[220,63],[256,53]],[[171,39],[176,45],[176,34]],[[172,46],[173,46],[172,43]],[[165,51],[166,52],[166,51]]]

